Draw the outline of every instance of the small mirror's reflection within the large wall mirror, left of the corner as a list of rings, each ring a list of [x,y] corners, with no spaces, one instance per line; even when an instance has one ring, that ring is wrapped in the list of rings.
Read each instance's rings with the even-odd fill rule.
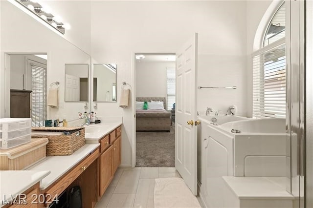
[[[88,102],[89,64],[65,64],[65,101]]]

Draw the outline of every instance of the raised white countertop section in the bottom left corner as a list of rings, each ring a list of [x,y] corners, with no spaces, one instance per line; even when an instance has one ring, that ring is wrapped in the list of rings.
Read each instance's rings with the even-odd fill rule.
[[[1,170],[0,207],[4,206],[4,200],[12,200],[11,196],[15,198],[17,194],[43,180],[49,173],[48,170]]]

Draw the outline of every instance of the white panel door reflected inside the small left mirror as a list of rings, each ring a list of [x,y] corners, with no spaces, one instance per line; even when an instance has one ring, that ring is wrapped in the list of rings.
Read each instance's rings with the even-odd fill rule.
[[[65,101],[79,101],[79,77],[65,75]]]

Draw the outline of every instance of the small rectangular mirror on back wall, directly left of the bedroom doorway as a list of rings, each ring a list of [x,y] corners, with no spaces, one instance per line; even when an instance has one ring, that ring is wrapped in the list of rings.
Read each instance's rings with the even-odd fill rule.
[[[94,102],[116,102],[116,73],[115,63],[93,64]]]

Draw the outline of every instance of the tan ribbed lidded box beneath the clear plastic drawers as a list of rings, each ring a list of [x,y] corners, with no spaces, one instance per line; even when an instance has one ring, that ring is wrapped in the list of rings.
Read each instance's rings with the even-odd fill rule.
[[[27,144],[0,150],[0,170],[23,170],[45,159],[48,139],[31,139]]]

